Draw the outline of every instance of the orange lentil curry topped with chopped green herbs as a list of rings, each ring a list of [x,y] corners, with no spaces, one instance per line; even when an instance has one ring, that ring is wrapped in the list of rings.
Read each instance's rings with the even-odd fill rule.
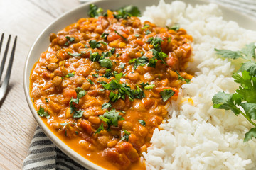
[[[132,8],[132,10],[131,10]],[[129,12],[130,11],[130,12]],[[191,35],[141,23],[134,6],[102,13],[50,35],[31,73],[31,98],[48,128],[105,169],[145,169],[140,159],[176,100]]]

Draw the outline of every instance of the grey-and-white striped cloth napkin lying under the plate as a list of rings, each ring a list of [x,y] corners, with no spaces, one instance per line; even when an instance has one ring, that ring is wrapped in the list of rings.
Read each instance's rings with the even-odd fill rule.
[[[233,8],[256,19],[255,0],[209,0]],[[36,169],[85,169],[55,147],[41,128],[37,127],[33,135],[28,156],[23,161],[23,170]]]

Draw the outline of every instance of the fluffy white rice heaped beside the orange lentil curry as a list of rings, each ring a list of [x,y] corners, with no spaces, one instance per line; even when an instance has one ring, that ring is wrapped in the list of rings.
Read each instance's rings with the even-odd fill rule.
[[[256,32],[224,21],[217,5],[186,5],[181,1],[147,7],[144,20],[158,26],[180,23],[193,36],[196,76],[182,86],[178,101],[167,109],[169,119],[154,130],[151,147],[143,153],[147,169],[256,169],[256,140],[243,142],[251,127],[242,116],[212,107],[218,91],[233,93],[235,66],[215,55],[214,48],[240,50],[256,42]],[[193,102],[191,103],[191,99]]]

